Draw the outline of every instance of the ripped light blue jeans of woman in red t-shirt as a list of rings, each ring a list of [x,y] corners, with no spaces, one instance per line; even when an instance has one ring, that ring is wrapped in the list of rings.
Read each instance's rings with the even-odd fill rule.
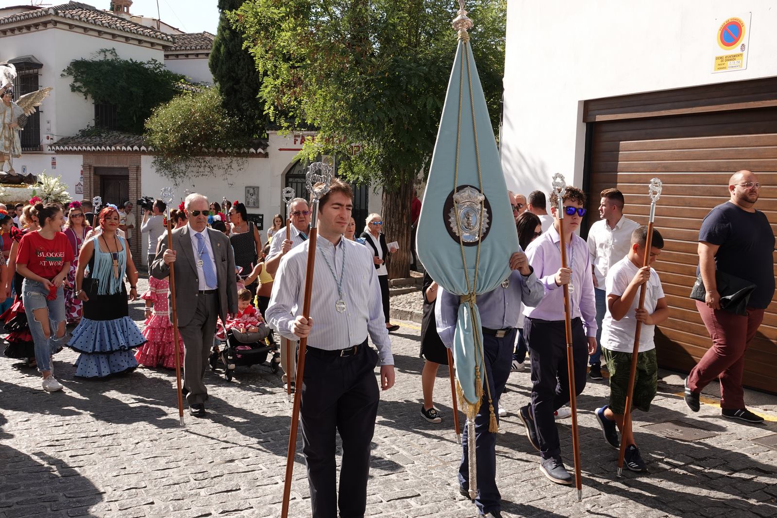
[[[57,298],[47,300],[48,290],[37,280],[25,279],[22,284],[22,302],[27,322],[30,325],[30,334],[35,343],[35,360],[38,370],[44,372],[51,370],[51,355],[57,352],[64,340],[64,332],[57,336],[57,328],[64,322],[64,289],[57,289]],[[49,319],[49,336],[44,335],[43,325],[36,320],[33,311],[47,308]]]

